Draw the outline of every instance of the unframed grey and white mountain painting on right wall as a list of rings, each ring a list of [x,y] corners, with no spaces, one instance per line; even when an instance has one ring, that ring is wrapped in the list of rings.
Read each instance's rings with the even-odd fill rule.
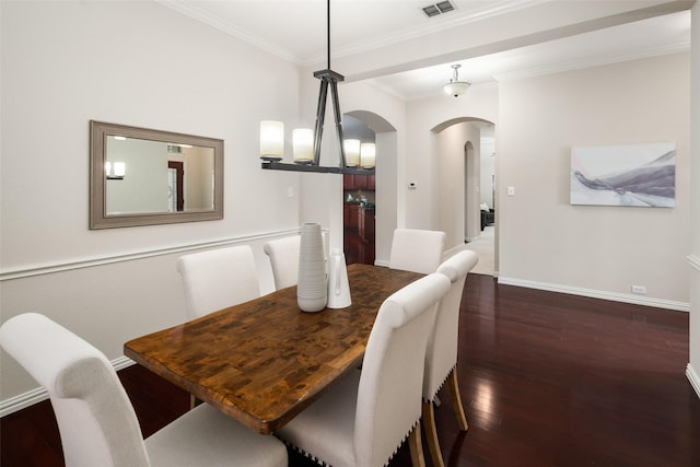
[[[673,142],[571,149],[571,205],[676,206]]]

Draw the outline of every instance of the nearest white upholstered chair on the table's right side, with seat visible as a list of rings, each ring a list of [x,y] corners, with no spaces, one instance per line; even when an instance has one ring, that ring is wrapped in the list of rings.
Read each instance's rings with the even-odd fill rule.
[[[450,280],[433,273],[387,297],[370,334],[362,371],[353,370],[278,431],[317,463],[380,467],[409,437],[413,465],[424,465],[421,389],[428,336]]]

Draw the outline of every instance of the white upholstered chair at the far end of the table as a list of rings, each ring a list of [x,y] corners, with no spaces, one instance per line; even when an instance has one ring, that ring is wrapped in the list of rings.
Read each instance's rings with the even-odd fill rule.
[[[442,261],[447,235],[440,231],[396,229],[389,253],[389,268],[435,272]]]

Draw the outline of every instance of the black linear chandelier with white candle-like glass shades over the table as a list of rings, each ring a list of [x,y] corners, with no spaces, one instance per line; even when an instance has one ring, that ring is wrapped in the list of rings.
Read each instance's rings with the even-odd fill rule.
[[[280,162],[284,152],[284,125],[280,121],[260,122],[260,159],[261,167],[272,171],[319,172],[326,174],[373,174],[374,153],[370,163],[355,162],[355,157],[346,160],[345,141],[342,137],[342,115],[338,101],[338,82],[345,77],[330,69],[330,0],[327,7],[327,68],[314,72],[314,78],[320,80],[318,106],[316,108],[316,126],[314,130],[299,128],[292,132],[294,163]],[[336,133],[338,137],[338,166],[320,165],[320,141],[326,118],[326,102],[330,89],[331,104],[335,115]],[[366,160],[365,160],[366,161]]]

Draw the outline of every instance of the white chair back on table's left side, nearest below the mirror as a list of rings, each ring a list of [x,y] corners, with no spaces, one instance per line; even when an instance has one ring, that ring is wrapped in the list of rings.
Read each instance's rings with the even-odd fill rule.
[[[257,268],[248,245],[192,253],[177,258],[188,319],[260,296]]]

